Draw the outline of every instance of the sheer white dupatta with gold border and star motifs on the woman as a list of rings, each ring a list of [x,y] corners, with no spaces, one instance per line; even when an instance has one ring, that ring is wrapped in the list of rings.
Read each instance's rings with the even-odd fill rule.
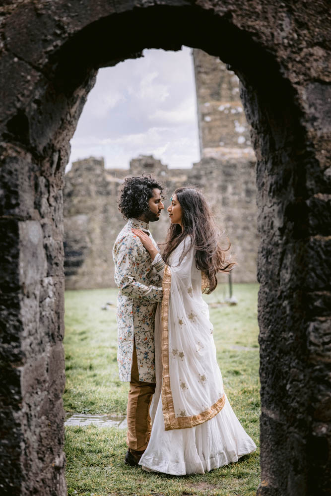
[[[166,431],[202,424],[225,404],[194,249],[178,264],[183,243],[172,253],[171,265],[165,266],[162,284],[161,395]]]

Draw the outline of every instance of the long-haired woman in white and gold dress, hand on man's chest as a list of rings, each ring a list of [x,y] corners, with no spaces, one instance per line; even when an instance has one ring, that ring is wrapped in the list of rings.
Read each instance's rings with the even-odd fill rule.
[[[224,393],[208,306],[201,297],[202,279],[209,294],[216,288],[216,273],[234,264],[225,259],[197,189],[176,189],[168,212],[163,258],[147,234],[133,230],[163,277],[163,301],[155,318],[153,426],[139,465],[172,475],[203,474],[256,449]]]

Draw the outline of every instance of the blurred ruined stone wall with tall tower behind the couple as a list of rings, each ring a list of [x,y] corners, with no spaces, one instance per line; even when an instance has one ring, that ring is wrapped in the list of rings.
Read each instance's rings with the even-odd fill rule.
[[[177,186],[200,186],[220,229],[231,241],[232,257],[238,263],[233,281],[256,281],[255,156],[239,98],[239,79],[216,57],[202,50],[194,50],[193,55],[201,162],[193,169],[174,170],[142,156],[132,159],[127,171],[104,170],[103,161],[93,158],[75,162],[66,174],[64,189],[67,289],[114,286],[112,247],[124,223],[117,197],[125,175],[143,173],[164,182],[166,206]],[[151,224],[158,242],[164,242],[168,225],[166,212]]]

